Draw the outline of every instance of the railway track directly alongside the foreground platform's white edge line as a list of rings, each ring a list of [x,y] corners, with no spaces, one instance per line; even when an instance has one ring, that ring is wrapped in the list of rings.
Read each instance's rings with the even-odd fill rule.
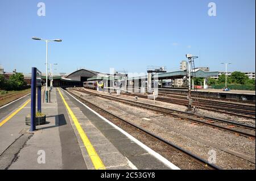
[[[79,99],[82,103],[85,103],[87,106],[92,108],[97,113],[100,113],[101,116],[112,121],[112,123],[118,125],[118,127],[125,128],[126,131],[130,132],[131,134],[133,134],[134,132],[140,132],[139,133],[140,137],[143,137],[144,139],[146,136],[147,142],[148,141],[152,142],[152,144],[150,144],[150,145],[152,145],[153,147],[154,147],[154,145],[158,145],[158,146],[156,146],[156,148],[158,149],[159,154],[172,155],[172,156],[170,156],[170,158],[167,158],[168,160],[172,161],[171,159],[174,159],[174,158],[180,159],[180,157],[182,157],[182,162],[191,162],[191,161],[195,162],[193,164],[196,165],[197,169],[199,169],[199,167],[201,167],[202,169],[209,169],[209,170],[216,170],[216,169],[219,170],[220,169],[220,167],[218,167],[212,163],[209,163],[205,159],[200,158],[199,156],[192,154],[189,151],[184,150],[183,148],[181,148],[177,145],[174,145],[172,142],[164,140],[164,138],[159,137],[156,134],[151,133],[142,127],[138,127],[137,125],[130,123],[129,121],[124,120],[121,117],[116,116],[113,113],[98,107],[96,104],[93,104],[92,102],[89,102],[88,100],[82,99],[73,90],[68,90],[68,91],[72,95],[76,96],[76,98]],[[126,124],[126,125],[124,126],[123,124]],[[128,126],[128,128],[127,128],[127,126]],[[150,137],[150,138],[147,138],[147,137]],[[140,140],[140,141],[142,141],[142,140]],[[156,144],[156,142],[159,142],[159,143]],[[164,146],[159,146],[159,144],[164,145]],[[168,152],[168,153],[166,153],[166,152]],[[186,157],[186,158],[184,158],[184,157]],[[180,161],[176,161],[176,162],[180,163]],[[197,166],[198,164],[200,164],[200,166]],[[189,164],[189,165],[191,165],[191,164]]]

